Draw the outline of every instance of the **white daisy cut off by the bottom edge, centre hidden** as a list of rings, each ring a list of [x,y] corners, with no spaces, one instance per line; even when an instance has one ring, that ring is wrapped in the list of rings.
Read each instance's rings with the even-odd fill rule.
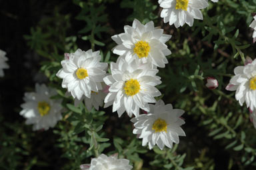
[[[82,170],[130,170],[128,159],[117,159],[117,155],[107,157],[101,154],[97,158],[91,159],[91,164],[80,165]]]

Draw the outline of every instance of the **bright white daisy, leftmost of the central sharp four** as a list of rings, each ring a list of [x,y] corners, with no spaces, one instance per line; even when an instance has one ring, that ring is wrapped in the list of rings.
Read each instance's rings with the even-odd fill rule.
[[[75,53],[65,54],[65,60],[61,61],[63,69],[56,74],[63,79],[62,87],[67,88],[73,98],[81,100],[81,97],[91,97],[91,91],[98,92],[102,89],[101,82],[105,77],[107,63],[99,62],[99,51],[91,49],[82,51],[77,49]]]

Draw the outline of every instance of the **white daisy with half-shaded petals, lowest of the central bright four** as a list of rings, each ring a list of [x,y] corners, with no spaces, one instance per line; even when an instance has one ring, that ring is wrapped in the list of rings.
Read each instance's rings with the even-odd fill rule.
[[[179,136],[185,136],[185,132],[181,129],[181,125],[185,123],[181,119],[184,111],[173,109],[171,104],[165,105],[162,100],[149,106],[149,113],[131,119],[135,127],[133,134],[139,134],[143,146],[149,143],[149,149],[155,144],[161,150],[164,146],[172,148],[173,143],[179,143]]]

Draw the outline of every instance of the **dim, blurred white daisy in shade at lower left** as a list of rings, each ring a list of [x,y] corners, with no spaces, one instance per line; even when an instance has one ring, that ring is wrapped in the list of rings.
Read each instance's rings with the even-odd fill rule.
[[[61,100],[50,99],[53,95],[57,95],[55,89],[47,88],[44,84],[36,84],[35,92],[25,93],[25,103],[21,105],[19,114],[27,119],[27,125],[33,124],[33,131],[47,130],[62,119]]]

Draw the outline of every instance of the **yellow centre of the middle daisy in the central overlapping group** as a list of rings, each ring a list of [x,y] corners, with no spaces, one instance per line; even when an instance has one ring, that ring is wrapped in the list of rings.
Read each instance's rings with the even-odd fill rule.
[[[125,87],[123,87],[123,89],[125,89],[126,95],[133,96],[139,93],[139,90],[141,89],[141,85],[139,85],[139,81],[135,79],[130,79],[126,81]]]

